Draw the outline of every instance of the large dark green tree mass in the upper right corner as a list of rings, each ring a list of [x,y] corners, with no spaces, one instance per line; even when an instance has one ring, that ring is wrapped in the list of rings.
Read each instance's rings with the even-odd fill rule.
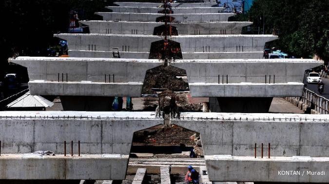
[[[328,62],[328,0],[254,0],[248,14],[261,33],[275,33],[273,46],[296,57],[317,55]]]

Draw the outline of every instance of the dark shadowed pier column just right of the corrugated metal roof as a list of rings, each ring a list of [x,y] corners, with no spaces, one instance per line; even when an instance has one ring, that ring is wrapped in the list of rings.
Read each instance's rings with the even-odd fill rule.
[[[60,96],[64,111],[111,111],[114,97]]]

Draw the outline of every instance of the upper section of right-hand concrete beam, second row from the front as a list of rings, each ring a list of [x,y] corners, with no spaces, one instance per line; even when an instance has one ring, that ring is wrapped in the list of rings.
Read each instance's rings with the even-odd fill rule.
[[[313,59],[228,59],[176,60],[170,65],[186,70],[189,83],[218,84],[218,75],[226,83],[302,83],[306,69],[322,65]],[[203,84],[204,85],[204,84]],[[219,86],[219,85],[218,85]],[[270,87],[270,86],[269,86]]]

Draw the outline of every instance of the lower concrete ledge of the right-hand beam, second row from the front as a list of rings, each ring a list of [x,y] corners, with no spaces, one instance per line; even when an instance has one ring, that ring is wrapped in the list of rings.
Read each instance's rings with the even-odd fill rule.
[[[290,82],[276,84],[189,83],[189,86],[193,97],[301,97],[304,89],[303,83]]]

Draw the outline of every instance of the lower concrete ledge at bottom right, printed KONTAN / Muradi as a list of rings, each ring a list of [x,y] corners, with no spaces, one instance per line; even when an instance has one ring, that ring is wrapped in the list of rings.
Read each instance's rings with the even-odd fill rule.
[[[205,155],[205,160],[210,181],[329,181],[329,157],[292,156],[262,159],[250,156]]]

